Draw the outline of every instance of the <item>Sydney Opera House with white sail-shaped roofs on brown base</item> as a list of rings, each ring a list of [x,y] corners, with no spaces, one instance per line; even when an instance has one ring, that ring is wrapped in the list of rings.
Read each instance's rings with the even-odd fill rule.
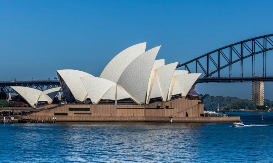
[[[57,70],[66,103],[53,104],[59,88],[39,91],[12,87],[32,107],[46,102],[26,119],[58,121],[203,121],[203,104],[194,83],[200,73],[176,70],[178,62],[155,60],[160,46],[146,51],[146,43],[117,54],[99,77],[89,73]],[[191,91],[191,92],[190,92]],[[189,94],[190,92],[190,94]]]

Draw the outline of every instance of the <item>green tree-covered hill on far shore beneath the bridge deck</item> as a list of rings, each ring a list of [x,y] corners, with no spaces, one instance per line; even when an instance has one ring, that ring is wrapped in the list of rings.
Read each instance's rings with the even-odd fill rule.
[[[219,110],[256,110],[266,109],[266,107],[273,106],[273,101],[264,99],[264,106],[257,106],[251,100],[239,99],[237,97],[223,97],[223,96],[209,96],[209,94],[201,95],[201,103],[204,104],[205,110],[216,110],[219,103]]]

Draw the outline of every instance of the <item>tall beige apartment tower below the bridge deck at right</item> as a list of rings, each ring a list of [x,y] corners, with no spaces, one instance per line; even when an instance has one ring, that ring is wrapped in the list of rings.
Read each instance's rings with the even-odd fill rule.
[[[261,76],[256,76],[261,77]],[[264,82],[254,81],[252,82],[252,102],[257,106],[264,105]]]

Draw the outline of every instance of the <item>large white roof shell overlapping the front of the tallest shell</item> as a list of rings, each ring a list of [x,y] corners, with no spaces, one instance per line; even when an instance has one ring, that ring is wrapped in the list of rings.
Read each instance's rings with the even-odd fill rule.
[[[145,103],[149,77],[160,46],[152,48],[133,60],[121,74],[118,84],[139,104]]]

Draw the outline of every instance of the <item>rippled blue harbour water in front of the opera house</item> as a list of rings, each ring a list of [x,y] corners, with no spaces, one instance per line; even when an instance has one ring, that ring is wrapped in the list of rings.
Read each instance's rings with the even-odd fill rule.
[[[241,116],[246,126],[175,122],[0,124],[0,162],[273,162],[273,113],[227,114]]]

